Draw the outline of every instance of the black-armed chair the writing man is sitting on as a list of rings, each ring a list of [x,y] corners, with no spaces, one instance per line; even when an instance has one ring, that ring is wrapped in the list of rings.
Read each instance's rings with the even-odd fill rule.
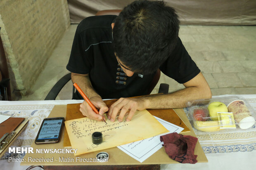
[[[121,12],[121,9],[103,10],[103,11],[97,12],[96,16],[97,15],[119,15],[120,12]],[[160,75],[161,75],[161,71],[158,69],[156,74],[154,75],[153,81],[150,84],[150,87],[148,89],[148,94],[150,94],[153,91],[154,87],[159,81]],[[45,100],[55,100],[57,95],[61,91],[61,89],[65,86],[67,82],[69,82],[69,80],[71,80],[71,73],[68,73],[64,77],[59,79],[59,81],[52,87],[50,92],[47,94]],[[169,89],[169,85],[162,83],[160,84],[158,93],[168,93],[168,89]],[[75,93],[75,88],[73,86],[72,98],[74,96],[74,93]]]

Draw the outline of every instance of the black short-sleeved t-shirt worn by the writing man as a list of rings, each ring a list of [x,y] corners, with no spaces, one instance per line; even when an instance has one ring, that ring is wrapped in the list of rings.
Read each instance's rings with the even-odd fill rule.
[[[66,68],[77,74],[89,73],[93,88],[103,99],[146,95],[154,74],[128,77],[121,70],[112,44],[111,23],[115,18],[115,15],[90,16],[79,23]],[[159,69],[179,83],[200,72],[180,38]]]

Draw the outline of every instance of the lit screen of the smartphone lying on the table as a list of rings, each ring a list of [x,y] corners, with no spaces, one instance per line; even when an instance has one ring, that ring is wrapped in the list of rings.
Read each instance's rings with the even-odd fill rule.
[[[46,140],[54,140],[59,138],[60,130],[62,128],[63,119],[55,119],[55,120],[44,120],[42,128],[38,134],[37,140],[46,141]]]

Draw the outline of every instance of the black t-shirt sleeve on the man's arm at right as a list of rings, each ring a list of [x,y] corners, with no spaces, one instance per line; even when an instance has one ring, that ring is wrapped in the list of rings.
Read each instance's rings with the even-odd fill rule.
[[[196,63],[194,63],[187,53],[180,38],[178,38],[175,49],[173,49],[167,60],[160,66],[160,70],[180,84],[190,81],[200,72]]]

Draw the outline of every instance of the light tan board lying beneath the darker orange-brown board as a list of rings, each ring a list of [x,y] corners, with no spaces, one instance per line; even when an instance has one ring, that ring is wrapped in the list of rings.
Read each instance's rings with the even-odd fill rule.
[[[66,105],[56,105],[53,109],[52,112],[50,113],[50,115],[48,117],[66,117]],[[175,112],[178,114],[178,116],[180,116],[180,118],[184,121],[184,123],[187,125],[187,127],[190,129],[190,131],[187,132],[181,132],[180,134],[183,135],[191,135],[196,137],[196,135],[194,134],[194,131],[192,129],[192,126],[190,125],[185,112],[183,111],[183,109],[175,109]],[[64,138],[63,138],[63,133],[62,133],[62,137],[59,143],[55,143],[55,144],[35,144],[34,142],[32,143],[31,147],[33,147],[33,150],[36,151],[36,149],[63,149],[63,142],[64,142]],[[144,162],[140,163],[139,161],[135,160],[134,158],[128,156],[126,153],[124,153],[123,151],[121,151],[120,149],[118,149],[117,147],[114,148],[109,148],[109,149],[104,149],[102,150],[104,152],[107,152],[109,154],[109,161],[108,162],[79,162],[76,161],[76,157],[74,156],[74,154],[60,154],[60,153],[28,153],[24,156],[24,158],[26,158],[26,162],[21,162],[21,165],[84,165],[81,166],[83,168],[85,168],[85,165],[148,165],[148,164],[170,164],[170,163],[178,163],[176,161],[173,161],[171,158],[168,157],[168,155],[166,154],[164,147],[162,147],[161,149],[159,149],[158,151],[156,151],[156,153],[154,153],[152,156],[150,156],[149,158],[147,158]],[[79,156],[80,158],[95,158],[96,154],[99,153],[99,151],[95,151],[95,152],[91,152],[88,154],[83,154],[81,156]],[[196,147],[194,149],[194,154],[198,155],[197,156],[197,161],[200,162],[208,162],[203,149],[201,148],[201,145],[199,144],[199,142],[197,141]],[[31,162],[28,161],[28,158],[53,158],[52,162]],[[59,158],[73,158],[74,161],[69,161],[69,162],[62,162],[59,161]]]

